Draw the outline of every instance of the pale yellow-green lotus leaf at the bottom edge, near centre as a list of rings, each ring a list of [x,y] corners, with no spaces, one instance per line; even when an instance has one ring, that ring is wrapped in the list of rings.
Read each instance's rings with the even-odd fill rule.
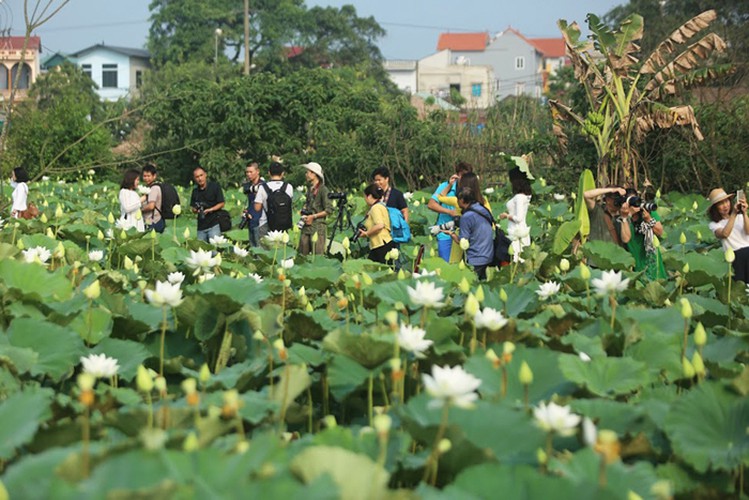
[[[312,446],[289,464],[305,483],[330,475],[338,486],[339,498],[385,498],[390,475],[371,458],[342,448]]]

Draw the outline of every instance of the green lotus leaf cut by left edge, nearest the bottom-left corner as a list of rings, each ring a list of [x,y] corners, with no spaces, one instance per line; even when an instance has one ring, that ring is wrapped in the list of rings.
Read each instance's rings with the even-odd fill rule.
[[[50,389],[17,392],[0,404],[0,459],[13,457],[20,446],[31,441],[39,426],[52,416]]]

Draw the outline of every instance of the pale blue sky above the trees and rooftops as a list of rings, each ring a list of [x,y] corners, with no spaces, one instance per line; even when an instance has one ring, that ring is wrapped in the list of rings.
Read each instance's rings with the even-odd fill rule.
[[[28,0],[30,5],[50,0]],[[60,0],[51,0],[53,6]],[[0,30],[24,31],[24,0],[0,0]],[[72,53],[104,42],[144,48],[150,0],[70,0],[34,34],[43,56]],[[488,31],[508,26],[529,38],[559,36],[558,19],[585,26],[588,12],[603,15],[624,0],[307,0],[307,6],[353,4],[361,17],[374,16],[387,31],[379,46],[386,59],[420,59],[436,51],[440,33]],[[250,2],[252,5],[252,1]],[[7,33],[7,31],[6,31]]]

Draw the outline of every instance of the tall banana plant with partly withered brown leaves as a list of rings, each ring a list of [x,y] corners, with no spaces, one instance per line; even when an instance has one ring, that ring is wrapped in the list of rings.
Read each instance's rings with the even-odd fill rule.
[[[642,167],[637,145],[656,128],[688,126],[695,138],[702,140],[692,107],[666,105],[664,100],[679,88],[703,83],[731,70],[729,65],[710,64],[711,56],[726,48],[715,33],[688,44],[716,17],[715,11],[709,10],[690,19],[643,63],[637,57],[637,42],[644,29],[642,16],[632,14],[617,29],[611,29],[597,16],[588,14],[588,40],[581,40],[577,23],[559,20],[567,56],[575,78],[585,89],[590,111],[583,116],[559,101],[549,101],[553,131],[564,148],[567,135],[562,122],[580,127],[595,145],[599,183],[637,186],[638,167]]]

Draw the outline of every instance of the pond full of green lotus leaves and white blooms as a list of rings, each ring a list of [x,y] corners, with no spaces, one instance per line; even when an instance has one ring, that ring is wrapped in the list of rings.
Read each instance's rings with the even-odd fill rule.
[[[747,494],[749,300],[698,195],[659,200],[648,282],[554,245],[574,195],[537,181],[534,245],[479,284],[430,252],[427,192],[400,271],[348,231],[345,258],[123,232],[116,193],[35,183],[43,216],[0,230],[0,498]]]

